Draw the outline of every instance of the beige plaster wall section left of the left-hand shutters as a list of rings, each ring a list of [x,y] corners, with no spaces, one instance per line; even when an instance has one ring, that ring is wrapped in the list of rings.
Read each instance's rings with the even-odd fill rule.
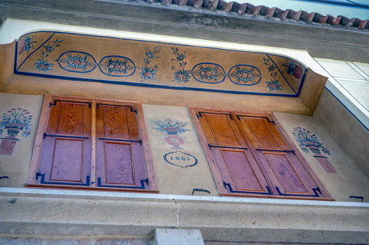
[[[21,111],[26,110],[24,115],[32,115],[30,124],[33,124],[30,126],[31,132],[29,137],[21,136],[21,133],[24,132],[23,130],[18,133],[16,138],[19,140],[15,143],[12,155],[0,155],[0,176],[3,177],[0,179],[1,187],[23,187],[26,182],[43,98],[43,96],[39,95],[0,93],[1,121],[3,121],[3,113],[10,115],[11,113],[8,111],[18,111],[17,108],[21,108]],[[30,114],[26,114],[26,112]],[[7,129],[3,129],[0,138],[7,136]],[[4,139],[0,139],[0,141],[4,141]]]

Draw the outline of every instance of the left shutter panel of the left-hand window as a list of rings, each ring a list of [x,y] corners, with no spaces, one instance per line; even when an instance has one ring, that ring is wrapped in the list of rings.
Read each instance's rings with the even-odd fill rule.
[[[89,186],[91,104],[54,100],[50,107],[37,183]]]

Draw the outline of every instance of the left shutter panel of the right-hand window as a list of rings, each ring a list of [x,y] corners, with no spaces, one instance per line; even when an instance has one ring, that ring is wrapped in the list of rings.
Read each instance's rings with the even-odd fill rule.
[[[229,113],[198,112],[208,146],[222,176],[222,195],[271,195],[267,179]]]

